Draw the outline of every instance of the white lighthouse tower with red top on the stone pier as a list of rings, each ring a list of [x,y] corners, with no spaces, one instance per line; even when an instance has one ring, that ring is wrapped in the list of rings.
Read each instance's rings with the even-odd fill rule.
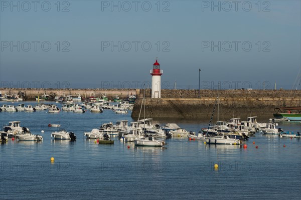
[[[161,98],[161,75],[163,70],[160,69],[158,58],[154,63],[154,68],[150,69],[150,74],[152,74],[152,98]]]

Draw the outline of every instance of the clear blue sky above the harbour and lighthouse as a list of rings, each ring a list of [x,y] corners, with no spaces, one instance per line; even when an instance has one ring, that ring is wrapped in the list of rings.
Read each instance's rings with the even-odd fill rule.
[[[277,88],[290,89],[299,81],[299,0],[240,1],[237,8],[218,0],[57,2],[38,1],[35,11],[32,1],[1,0],[2,86],[66,81],[70,87],[125,87],[124,81],[136,81],[141,87],[151,81],[156,57],[170,88],[175,80],[177,87],[198,87],[199,68],[202,88],[219,81],[223,88],[257,89],[264,81],[272,88],[276,81]]]

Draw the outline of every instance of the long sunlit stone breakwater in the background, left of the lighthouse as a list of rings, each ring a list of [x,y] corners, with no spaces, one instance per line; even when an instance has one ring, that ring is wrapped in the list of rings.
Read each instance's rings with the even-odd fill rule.
[[[95,95],[96,97],[101,97],[102,94],[106,94],[109,99],[113,99],[114,95],[118,94],[120,98],[126,97],[128,94],[139,94],[139,89],[55,89],[55,88],[0,88],[2,91],[2,95],[5,93],[19,93],[22,92],[25,95],[26,100],[35,100],[35,96],[42,95],[44,93],[49,94],[52,99],[55,96],[59,95],[76,95],[79,93],[82,97],[89,97],[91,94]]]

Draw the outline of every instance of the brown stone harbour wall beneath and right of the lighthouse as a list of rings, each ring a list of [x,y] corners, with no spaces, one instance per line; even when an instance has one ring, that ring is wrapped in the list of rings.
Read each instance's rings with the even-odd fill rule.
[[[131,116],[138,118],[143,90],[134,104]],[[259,116],[272,118],[275,107],[301,106],[300,90],[162,90],[162,98],[149,98],[145,89],[145,117],[151,118],[210,118],[219,93],[221,120],[232,117]],[[143,102],[143,103],[144,103]],[[217,105],[215,118],[217,116]],[[141,111],[143,116],[143,107]]]

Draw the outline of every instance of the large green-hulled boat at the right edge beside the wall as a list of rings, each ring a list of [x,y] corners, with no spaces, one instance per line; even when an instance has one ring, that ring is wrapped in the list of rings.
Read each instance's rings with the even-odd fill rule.
[[[301,121],[301,107],[276,107],[274,118],[288,118],[290,121]]]

